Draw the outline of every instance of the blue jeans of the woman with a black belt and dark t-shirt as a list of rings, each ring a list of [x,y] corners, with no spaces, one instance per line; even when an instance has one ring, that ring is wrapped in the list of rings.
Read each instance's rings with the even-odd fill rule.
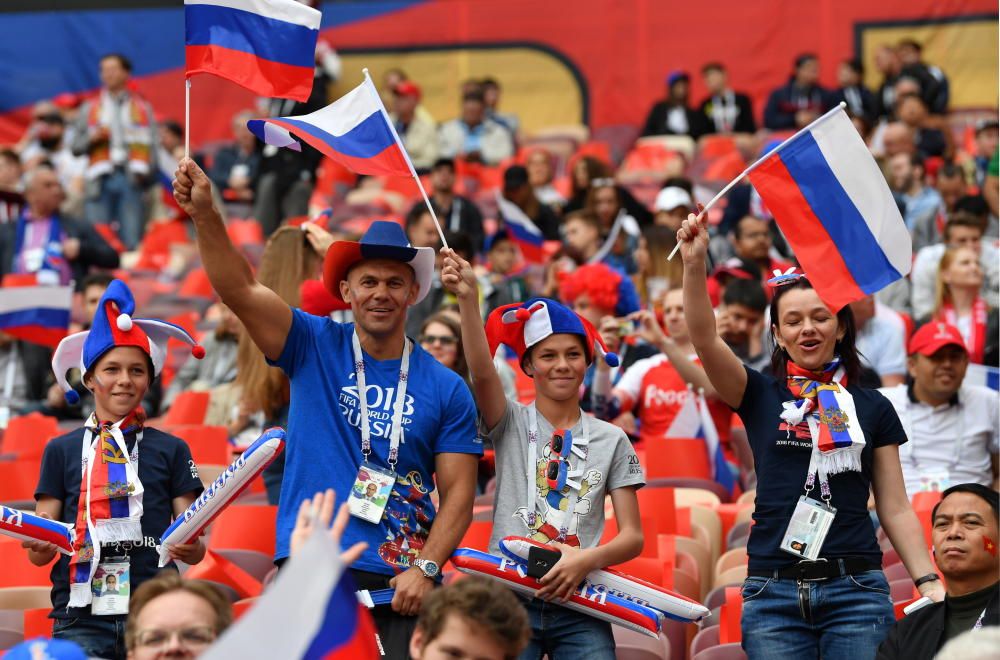
[[[895,623],[880,570],[801,587],[764,577],[743,583],[743,650],[750,660],[872,660]]]

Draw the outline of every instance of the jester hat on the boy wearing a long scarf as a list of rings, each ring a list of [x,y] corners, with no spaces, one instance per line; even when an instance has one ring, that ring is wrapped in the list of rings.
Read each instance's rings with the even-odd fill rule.
[[[82,378],[112,348],[135,346],[140,349],[153,363],[153,378],[163,369],[170,339],[190,344],[195,358],[205,357],[205,349],[184,328],[158,319],[135,319],[132,318],[134,312],[132,292],[121,280],[112,280],[101,296],[90,330],[72,334],[59,342],[52,356],[52,370],[71,405],[79,402],[80,395],[67,382],[66,372],[79,368]]]

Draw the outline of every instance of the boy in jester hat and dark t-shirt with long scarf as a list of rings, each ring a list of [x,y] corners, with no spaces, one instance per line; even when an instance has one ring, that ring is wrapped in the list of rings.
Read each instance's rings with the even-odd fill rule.
[[[108,286],[88,332],[62,340],[52,358],[56,380],[70,403],[78,398],[66,372],[78,367],[96,410],[82,428],[45,446],[35,490],[38,515],[73,526],[73,555],[52,566],[53,636],[79,644],[87,655],[124,659],[128,594],[158,571],[156,544],[176,516],[203,490],[191,451],[180,438],[144,426],[140,407],[163,368],[167,340],[205,351],[183,329],[133,319],[132,292],[119,280]],[[55,546],[25,542],[28,558],[44,566]],[[171,547],[170,557],[196,564],[201,541]],[[173,564],[169,567],[176,570]],[[100,575],[118,579],[118,596],[94,589]]]

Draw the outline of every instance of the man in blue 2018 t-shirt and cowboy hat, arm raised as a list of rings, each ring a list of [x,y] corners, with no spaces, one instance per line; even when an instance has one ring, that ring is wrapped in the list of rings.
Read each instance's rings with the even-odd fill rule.
[[[386,653],[405,657],[414,615],[471,521],[482,454],[468,387],[404,333],[407,308],[430,289],[434,252],[411,248],[391,222],[373,223],[359,243],[335,242],[323,280],[355,319],[335,323],[290,309],[254,279],[195,163],[181,162],[174,190],[194,219],[212,286],[291,383],[276,559],[288,555],[303,500],[333,488],[344,502],[373,474],[392,475],[384,512],[359,506],[343,543],[368,544],[354,563],[360,588],[395,588],[391,611],[376,608],[374,618]]]

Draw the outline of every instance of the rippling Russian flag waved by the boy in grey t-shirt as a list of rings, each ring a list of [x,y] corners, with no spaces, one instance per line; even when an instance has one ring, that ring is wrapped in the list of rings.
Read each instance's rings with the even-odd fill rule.
[[[266,144],[301,151],[295,135],[358,174],[416,176],[368,69],[360,85],[322,110],[251,119],[247,128]]]

